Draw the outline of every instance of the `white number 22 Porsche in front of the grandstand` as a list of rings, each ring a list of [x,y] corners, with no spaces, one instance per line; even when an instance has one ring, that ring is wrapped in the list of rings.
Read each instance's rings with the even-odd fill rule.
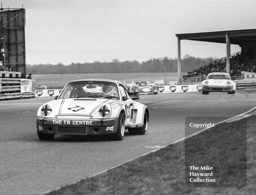
[[[202,82],[202,94],[206,95],[209,92],[228,92],[228,94],[236,93],[236,82],[231,80],[231,77],[226,72],[209,73],[206,79]]]

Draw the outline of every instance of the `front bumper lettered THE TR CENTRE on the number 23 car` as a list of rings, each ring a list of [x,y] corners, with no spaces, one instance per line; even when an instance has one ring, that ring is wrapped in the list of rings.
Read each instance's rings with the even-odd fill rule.
[[[71,119],[41,118],[36,120],[37,131],[61,135],[104,135],[116,133],[118,118]]]

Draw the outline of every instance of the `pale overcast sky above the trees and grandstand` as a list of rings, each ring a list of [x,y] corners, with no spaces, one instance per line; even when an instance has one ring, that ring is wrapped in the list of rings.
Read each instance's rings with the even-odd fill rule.
[[[256,28],[255,0],[1,0],[26,10],[26,64],[177,57],[175,34]],[[240,51],[231,45],[231,53]],[[224,57],[226,45],[181,41],[181,56]]]

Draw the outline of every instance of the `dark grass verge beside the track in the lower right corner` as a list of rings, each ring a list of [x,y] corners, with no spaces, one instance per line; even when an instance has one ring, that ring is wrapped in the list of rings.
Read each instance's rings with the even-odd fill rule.
[[[256,194],[256,116],[216,125],[194,137],[139,157],[100,175],[67,185],[48,195],[133,194],[133,195],[243,195]],[[247,125],[244,125],[247,124]],[[244,128],[247,126],[247,128]],[[244,136],[247,129],[247,140]],[[186,158],[185,158],[186,142]],[[247,142],[247,145],[246,145]],[[244,154],[247,147],[247,154]],[[188,155],[188,156],[187,156]],[[210,159],[218,182],[236,187],[186,187],[185,161],[205,164]],[[247,172],[246,179],[241,177]],[[245,186],[245,187],[239,187]]]

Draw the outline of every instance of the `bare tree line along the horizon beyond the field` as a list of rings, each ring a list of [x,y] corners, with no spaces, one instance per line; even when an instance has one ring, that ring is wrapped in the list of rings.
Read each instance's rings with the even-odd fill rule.
[[[208,64],[213,57],[200,58],[186,55],[182,59],[182,72]],[[27,72],[32,74],[77,74],[77,73],[132,73],[132,72],[177,72],[177,58],[151,58],[146,62],[124,61],[118,59],[112,62],[72,63],[63,65],[52,64],[27,64]]]

